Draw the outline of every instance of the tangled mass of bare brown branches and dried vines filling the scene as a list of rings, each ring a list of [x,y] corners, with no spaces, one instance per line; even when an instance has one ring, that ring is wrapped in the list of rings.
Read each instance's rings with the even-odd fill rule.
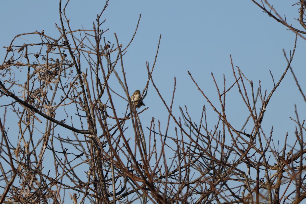
[[[131,95],[134,90],[129,90],[122,57],[132,43],[140,17],[130,43],[123,47],[116,34],[114,44],[103,38],[107,30],[102,30],[101,15],[108,1],[92,30],[71,30],[65,14],[68,2],[64,7],[59,2],[57,38],[43,31],[24,33],[6,47],[0,67],[1,107],[6,111],[0,118],[0,204],[61,204],[67,197],[73,203],[96,204],[299,203],[306,197],[304,121],[296,113],[292,147],[286,142],[275,146],[273,127],[269,132],[262,128],[274,92],[289,69],[294,76],[290,64],[297,38],[292,52],[284,52],[288,63],[282,76],[274,79],[271,74],[275,81],[271,91],[263,91],[260,82],[254,87],[231,61],[235,80],[230,87],[225,86],[225,76],[220,87],[212,74],[219,99],[219,104],[213,104],[188,72],[199,97],[207,100],[218,117],[211,128],[205,106],[200,121],[192,121],[186,106],[180,109],[181,117],[174,115],[175,78],[170,104],[159,93],[152,72],[161,36],[153,65],[146,66],[147,83],[142,91]],[[289,26],[271,13],[274,10],[267,1],[253,2]],[[306,5],[304,1],[298,4],[303,25]],[[39,42],[15,45],[15,39],[23,35],[37,36]],[[119,87],[110,85],[112,75]],[[149,130],[145,134],[140,121],[139,116],[147,109],[141,105],[149,83],[168,110],[165,133],[152,118],[151,124],[145,125]],[[238,88],[249,111],[248,117],[239,119],[245,121],[239,129],[226,117],[226,95],[233,87]],[[119,94],[122,90],[124,95]],[[301,88],[300,92],[306,102]],[[114,97],[127,106],[115,107]],[[119,117],[122,113],[124,117]],[[13,119],[18,128],[8,124]],[[129,124],[132,131],[127,130]],[[287,141],[288,133],[284,135]]]

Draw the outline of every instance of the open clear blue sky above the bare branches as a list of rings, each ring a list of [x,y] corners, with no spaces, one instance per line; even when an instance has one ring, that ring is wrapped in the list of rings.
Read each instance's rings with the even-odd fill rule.
[[[298,22],[293,19],[298,18],[297,6],[291,6],[292,2],[287,1],[273,2],[275,9],[280,13],[285,12],[282,14],[286,14],[289,23],[300,28]],[[72,30],[81,26],[91,29],[97,13],[100,13],[104,4],[105,1],[97,0],[71,1],[66,14],[70,18]],[[15,35],[36,30],[44,30],[45,34],[58,38],[59,34],[54,24],[59,24],[58,1],[2,1],[0,5],[1,48],[8,46]],[[267,93],[270,93],[273,82],[269,70],[274,80],[278,81],[287,66],[282,49],[289,54],[294,45],[295,34],[263,13],[250,0],[110,1],[102,17],[107,19],[102,28],[110,28],[105,34],[106,40],[115,43],[116,32],[119,42],[123,46],[127,45],[140,13],[138,31],[124,57],[130,94],[134,90],[143,89],[147,80],[145,62],[153,64],[161,34],[159,55],[153,72],[153,79],[159,91],[170,105],[175,76],[177,89],[173,106],[174,115],[180,117],[178,107],[186,105],[192,119],[199,123],[202,106],[206,105],[208,118],[213,115],[212,120],[208,121],[210,129],[214,128],[215,114],[191,81],[187,71],[191,72],[204,93],[219,108],[211,72],[221,88],[225,74],[226,86],[230,87],[234,82],[230,54],[234,66],[239,66],[245,76],[253,81],[255,90],[258,81],[261,80],[262,90],[267,89]],[[29,39],[27,42],[30,41]],[[24,40],[18,39],[18,42]],[[306,85],[305,47],[305,41],[298,38],[296,55],[292,63],[302,88]],[[0,49],[1,60],[5,53],[6,49]],[[121,93],[123,94],[123,91]],[[126,102],[121,103],[126,107]],[[144,127],[149,126],[152,117],[162,123],[167,120],[166,109],[151,84],[144,103],[149,107],[140,116]],[[297,104],[300,117],[305,117],[305,103],[291,73],[287,73],[267,106],[264,117],[266,122],[263,128],[270,132],[271,126],[274,126],[275,140],[282,140],[286,132],[295,139],[295,124],[289,119],[295,118],[294,104]],[[240,130],[248,112],[237,87],[227,93],[226,107],[227,118],[237,130]],[[161,125],[163,131],[165,126]]]

